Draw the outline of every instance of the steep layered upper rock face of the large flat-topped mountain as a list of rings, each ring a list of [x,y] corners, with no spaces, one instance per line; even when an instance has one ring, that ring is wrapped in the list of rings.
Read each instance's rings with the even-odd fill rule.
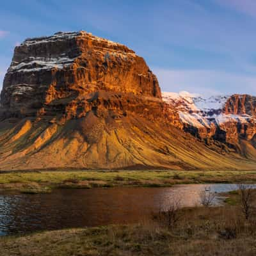
[[[84,31],[27,39],[15,48],[4,78],[1,112],[5,117],[79,116],[81,108],[93,108],[90,102],[102,91],[161,99],[156,76],[125,45]],[[102,103],[109,105],[107,100]]]

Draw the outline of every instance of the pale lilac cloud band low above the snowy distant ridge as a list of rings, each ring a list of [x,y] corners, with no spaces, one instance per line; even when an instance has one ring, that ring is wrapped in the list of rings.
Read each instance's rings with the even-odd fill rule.
[[[168,70],[153,68],[165,92],[187,91],[201,95],[249,93],[256,95],[256,76],[218,70]]]

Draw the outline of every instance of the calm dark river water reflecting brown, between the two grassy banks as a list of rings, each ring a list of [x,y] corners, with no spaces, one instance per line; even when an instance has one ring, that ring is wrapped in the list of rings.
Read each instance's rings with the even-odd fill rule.
[[[183,206],[199,204],[199,191],[216,193],[231,184],[180,185],[172,188],[58,189],[42,195],[0,195],[0,236],[72,227],[92,227],[143,220],[180,198]],[[220,204],[220,198],[214,204]]]

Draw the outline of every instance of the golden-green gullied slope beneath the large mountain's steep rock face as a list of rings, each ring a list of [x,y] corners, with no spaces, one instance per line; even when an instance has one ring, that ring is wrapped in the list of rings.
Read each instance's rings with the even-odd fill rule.
[[[172,170],[255,169],[256,159],[246,159],[227,147],[205,145],[161,120],[153,122],[132,114],[116,120],[93,114],[86,118],[64,124],[45,120],[1,122],[0,170],[138,166]]]

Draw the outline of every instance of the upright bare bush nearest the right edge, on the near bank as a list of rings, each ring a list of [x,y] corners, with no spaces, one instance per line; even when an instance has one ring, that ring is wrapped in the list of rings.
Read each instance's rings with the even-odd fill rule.
[[[248,220],[253,210],[253,188],[252,185],[237,184],[240,195],[241,209],[245,220]]]

